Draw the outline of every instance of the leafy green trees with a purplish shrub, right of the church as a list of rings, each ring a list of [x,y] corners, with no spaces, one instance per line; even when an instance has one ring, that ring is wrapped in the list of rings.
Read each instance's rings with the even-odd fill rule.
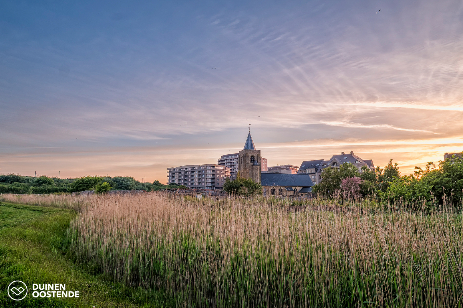
[[[463,153],[439,161],[429,162],[425,169],[415,166],[411,175],[400,176],[397,163],[389,160],[383,169],[373,171],[367,166],[357,167],[344,163],[339,168],[325,168],[322,180],[313,186],[313,192],[327,197],[379,198],[392,201],[463,203]]]

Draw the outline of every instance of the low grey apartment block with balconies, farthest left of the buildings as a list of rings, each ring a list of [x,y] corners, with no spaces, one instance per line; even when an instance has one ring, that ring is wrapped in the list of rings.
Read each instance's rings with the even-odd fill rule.
[[[227,177],[230,177],[230,168],[216,164],[167,168],[168,185],[177,183],[188,188],[222,189]]]

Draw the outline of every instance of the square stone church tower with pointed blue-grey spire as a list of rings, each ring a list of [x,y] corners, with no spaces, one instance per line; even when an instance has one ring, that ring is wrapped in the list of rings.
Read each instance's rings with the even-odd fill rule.
[[[261,182],[260,150],[256,150],[251,133],[248,133],[244,149],[238,153],[238,172],[245,179],[252,179],[259,184]]]

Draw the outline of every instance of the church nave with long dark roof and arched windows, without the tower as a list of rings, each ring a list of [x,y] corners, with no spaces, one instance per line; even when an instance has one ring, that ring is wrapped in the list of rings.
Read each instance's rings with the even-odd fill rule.
[[[312,195],[313,182],[310,175],[262,173],[264,196],[309,197]]]

